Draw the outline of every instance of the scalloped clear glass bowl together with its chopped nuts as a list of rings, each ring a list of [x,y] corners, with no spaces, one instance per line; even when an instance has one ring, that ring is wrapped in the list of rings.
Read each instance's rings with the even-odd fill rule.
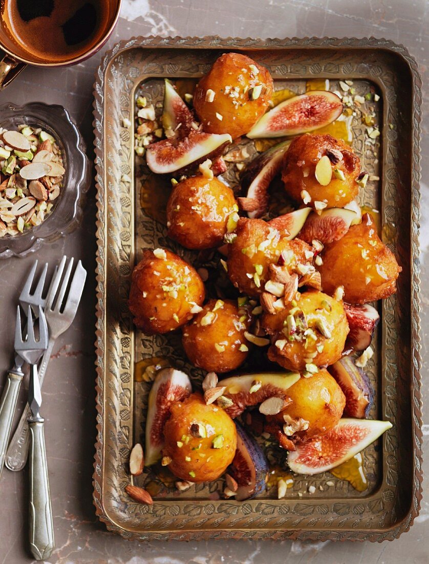
[[[0,258],[23,256],[77,227],[90,186],[84,151],[61,106],[0,106]]]

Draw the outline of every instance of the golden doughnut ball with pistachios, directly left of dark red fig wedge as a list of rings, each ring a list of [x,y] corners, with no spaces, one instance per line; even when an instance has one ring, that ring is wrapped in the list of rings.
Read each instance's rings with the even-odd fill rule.
[[[276,314],[264,314],[262,327],[272,336],[268,358],[288,370],[314,371],[341,358],[348,323],[342,302],[318,290],[301,294]]]

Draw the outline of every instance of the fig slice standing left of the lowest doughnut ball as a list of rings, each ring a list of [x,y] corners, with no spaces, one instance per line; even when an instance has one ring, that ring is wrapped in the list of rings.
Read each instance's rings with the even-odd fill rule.
[[[145,465],[155,464],[164,446],[164,425],[173,403],[182,402],[192,391],[189,377],[175,368],[163,368],[149,393],[146,417]]]

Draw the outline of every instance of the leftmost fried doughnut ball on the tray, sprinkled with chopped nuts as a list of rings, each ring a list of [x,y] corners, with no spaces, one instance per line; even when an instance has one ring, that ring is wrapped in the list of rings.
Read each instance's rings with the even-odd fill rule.
[[[192,319],[203,301],[204,284],[193,267],[169,250],[144,250],[128,300],[138,328],[147,335],[173,331]]]

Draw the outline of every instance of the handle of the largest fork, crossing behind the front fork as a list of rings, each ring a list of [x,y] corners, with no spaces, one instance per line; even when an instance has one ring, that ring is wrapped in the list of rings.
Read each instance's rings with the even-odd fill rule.
[[[39,369],[39,382],[41,387],[54,343],[55,340],[49,340],[48,348],[46,349],[46,351],[44,351],[42,356],[42,362]],[[28,419],[29,417],[31,417],[31,415],[32,412],[30,411],[28,403],[26,403],[23,414],[21,415],[21,418],[19,420],[19,424],[14,435],[12,436],[11,442],[6,452],[6,466],[9,470],[14,470],[14,472],[22,470],[27,461],[29,446]]]

